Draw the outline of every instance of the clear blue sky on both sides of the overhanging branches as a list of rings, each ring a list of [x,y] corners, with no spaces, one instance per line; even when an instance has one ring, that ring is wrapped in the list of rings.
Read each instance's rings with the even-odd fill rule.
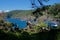
[[[60,3],[60,0],[50,0],[44,4]],[[0,10],[28,10],[31,9],[30,0],[0,0]]]

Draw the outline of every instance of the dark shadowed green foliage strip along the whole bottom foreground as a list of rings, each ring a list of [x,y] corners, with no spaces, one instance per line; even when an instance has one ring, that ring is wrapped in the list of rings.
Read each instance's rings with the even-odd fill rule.
[[[0,30],[0,40],[59,40],[60,30],[51,30],[49,32],[40,32],[31,34],[22,32],[21,35],[17,36],[13,32],[5,33]]]

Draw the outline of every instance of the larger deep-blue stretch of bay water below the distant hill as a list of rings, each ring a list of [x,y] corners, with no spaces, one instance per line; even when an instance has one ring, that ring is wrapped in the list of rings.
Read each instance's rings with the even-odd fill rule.
[[[5,21],[11,22],[13,24],[18,25],[19,28],[27,27],[26,20],[14,19],[14,18],[5,18]]]

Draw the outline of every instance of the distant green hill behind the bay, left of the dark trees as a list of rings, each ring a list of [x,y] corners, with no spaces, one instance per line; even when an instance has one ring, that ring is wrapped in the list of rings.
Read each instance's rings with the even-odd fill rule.
[[[33,10],[13,10],[13,11],[5,12],[4,15],[5,17],[9,15],[12,18],[23,17],[23,16],[31,15],[32,11]]]

